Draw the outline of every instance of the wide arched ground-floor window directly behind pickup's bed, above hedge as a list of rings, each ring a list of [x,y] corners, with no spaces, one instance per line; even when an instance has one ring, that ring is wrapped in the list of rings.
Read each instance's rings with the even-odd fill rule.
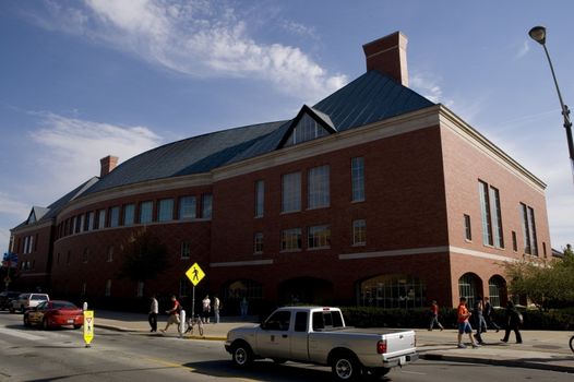
[[[380,275],[359,285],[359,306],[421,308],[427,305],[424,282],[410,275]]]

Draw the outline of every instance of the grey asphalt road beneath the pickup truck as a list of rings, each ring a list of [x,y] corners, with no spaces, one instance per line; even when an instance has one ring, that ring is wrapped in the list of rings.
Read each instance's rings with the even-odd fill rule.
[[[222,342],[96,329],[86,348],[82,331],[41,331],[21,314],[0,312],[0,381],[330,381],[330,369],[256,361],[236,369]],[[397,382],[574,381],[573,374],[485,365],[417,361],[382,379]]]

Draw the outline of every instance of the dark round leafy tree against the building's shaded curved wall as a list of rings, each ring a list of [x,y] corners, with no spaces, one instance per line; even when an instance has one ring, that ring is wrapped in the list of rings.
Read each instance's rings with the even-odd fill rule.
[[[167,268],[167,246],[146,228],[133,234],[121,247],[119,276],[131,280],[157,277]]]

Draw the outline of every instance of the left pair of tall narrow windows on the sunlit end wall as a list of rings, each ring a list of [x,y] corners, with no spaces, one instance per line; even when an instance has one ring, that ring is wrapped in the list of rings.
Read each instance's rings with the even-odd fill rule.
[[[478,184],[482,216],[482,243],[504,248],[499,190],[483,181],[478,181]]]

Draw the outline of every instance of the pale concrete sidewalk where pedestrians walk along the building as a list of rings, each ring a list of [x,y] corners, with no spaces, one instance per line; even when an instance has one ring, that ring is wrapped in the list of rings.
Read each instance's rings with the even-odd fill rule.
[[[189,336],[188,339],[211,339],[225,341],[227,332],[234,327],[243,325],[254,325],[252,321],[241,321],[240,318],[223,317],[218,324],[205,324],[204,336]],[[150,333],[150,324],[146,314],[123,313],[98,310],[95,312],[96,327],[109,330]],[[167,315],[159,315],[158,329],[165,327]],[[369,330],[372,331],[372,330]],[[521,367],[540,370],[553,370],[574,373],[574,354],[570,350],[569,339],[571,332],[555,331],[523,331],[523,344],[514,343],[514,333],[507,344],[500,341],[504,332],[495,333],[489,331],[482,335],[485,346],[474,349],[470,346],[466,349],[456,347],[455,330],[432,331],[416,330],[417,349],[423,359],[444,360],[451,362],[473,362],[498,365],[509,367]],[[158,334],[162,335],[162,334]],[[171,326],[166,336],[177,337],[176,327]],[[463,337],[464,339],[465,337]],[[468,341],[468,336],[466,336]]]

